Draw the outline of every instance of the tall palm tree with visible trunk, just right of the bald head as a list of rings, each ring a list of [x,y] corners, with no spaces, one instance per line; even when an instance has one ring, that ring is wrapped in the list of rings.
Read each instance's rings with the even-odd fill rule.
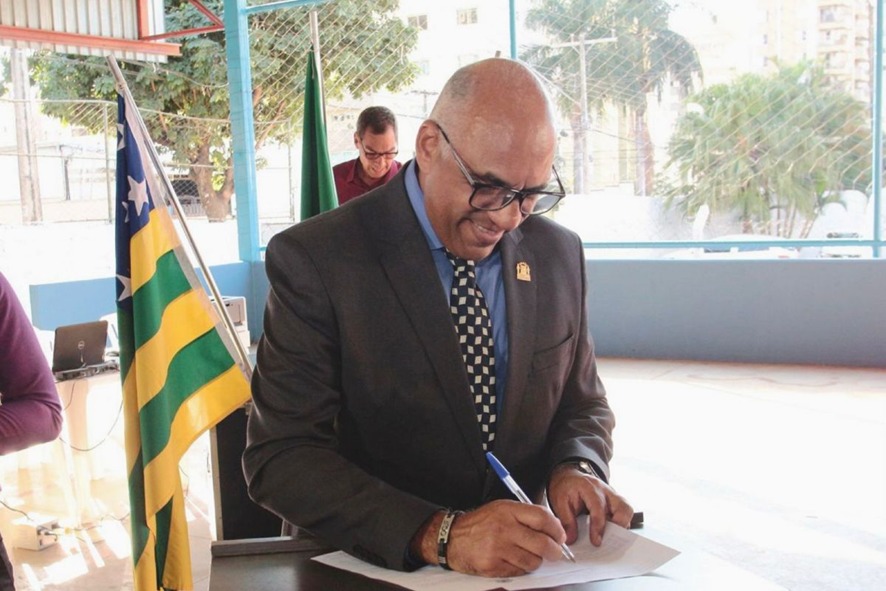
[[[646,195],[655,183],[654,146],[647,119],[649,97],[661,100],[666,84],[688,93],[702,75],[695,48],[668,28],[672,10],[666,0],[541,0],[526,18],[530,28],[544,31],[558,43],[575,43],[582,37],[593,43],[616,37],[612,43],[588,45],[587,108],[600,112],[617,105],[630,114],[639,195]],[[576,116],[582,105],[576,49],[539,47],[524,57],[563,91],[560,106],[571,114],[573,131],[577,132]]]

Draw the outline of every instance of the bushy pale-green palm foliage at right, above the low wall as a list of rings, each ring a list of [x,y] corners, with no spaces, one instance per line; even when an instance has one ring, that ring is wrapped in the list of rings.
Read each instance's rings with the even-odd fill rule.
[[[810,63],[746,74],[689,98],[671,138],[668,167],[680,182],[667,203],[692,216],[735,211],[746,233],[805,238],[840,191],[867,191],[867,107],[828,86]]]

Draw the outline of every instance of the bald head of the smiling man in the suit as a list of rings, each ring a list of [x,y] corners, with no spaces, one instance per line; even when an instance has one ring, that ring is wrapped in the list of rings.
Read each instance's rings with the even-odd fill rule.
[[[525,220],[522,202],[476,208],[479,187],[542,190],[556,149],[544,88],[523,64],[487,59],[449,79],[415,140],[418,182],[434,232],[456,256],[482,260]]]

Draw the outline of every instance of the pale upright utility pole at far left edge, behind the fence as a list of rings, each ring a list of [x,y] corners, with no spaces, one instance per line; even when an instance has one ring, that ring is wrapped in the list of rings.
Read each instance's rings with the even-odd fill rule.
[[[37,141],[34,138],[34,105],[28,79],[28,57],[23,49],[10,51],[12,98],[15,105],[15,139],[18,152],[18,184],[22,222],[43,221],[40,180],[37,171]]]

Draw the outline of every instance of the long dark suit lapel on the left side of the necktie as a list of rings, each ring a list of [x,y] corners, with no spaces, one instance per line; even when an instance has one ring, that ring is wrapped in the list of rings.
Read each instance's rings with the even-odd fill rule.
[[[449,302],[440,285],[427,240],[402,190],[402,182],[394,179],[385,187],[397,188],[392,188],[389,195],[378,200],[382,204],[381,210],[365,210],[363,224],[374,237],[379,263],[427,352],[465,445],[468,449],[481,449],[480,430]],[[472,456],[476,456],[478,467],[484,470],[482,454]]]

